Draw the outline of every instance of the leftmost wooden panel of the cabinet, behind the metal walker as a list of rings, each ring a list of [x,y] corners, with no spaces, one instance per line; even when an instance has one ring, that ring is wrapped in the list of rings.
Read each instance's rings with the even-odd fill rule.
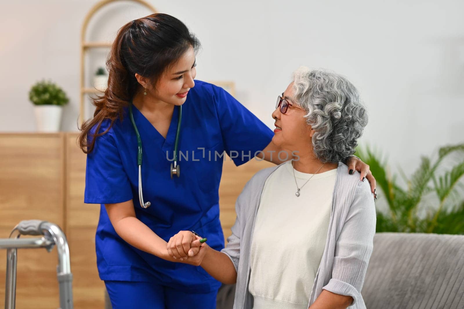
[[[64,134],[0,135],[0,237],[19,221],[64,222]],[[16,308],[58,308],[56,248],[18,250]],[[0,304],[5,299],[6,250],[0,250]]]

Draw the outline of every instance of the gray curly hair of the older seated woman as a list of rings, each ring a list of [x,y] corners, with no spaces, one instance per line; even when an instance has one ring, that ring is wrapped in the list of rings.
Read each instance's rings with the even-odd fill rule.
[[[322,162],[345,161],[354,154],[367,125],[367,110],[351,82],[328,70],[301,67],[293,73],[294,100],[315,130],[314,154]]]

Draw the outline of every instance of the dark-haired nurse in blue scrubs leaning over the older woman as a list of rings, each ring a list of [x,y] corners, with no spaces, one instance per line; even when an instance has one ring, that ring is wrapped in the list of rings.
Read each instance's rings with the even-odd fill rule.
[[[193,230],[221,250],[221,155],[240,165],[256,153],[271,161],[271,151],[280,151],[271,129],[224,89],[194,80],[199,46],[167,14],[124,25],[107,62],[108,89],[81,127],[84,202],[101,204],[97,266],[114,309],[215,308],[219,281],[201,267],[174,263],[167,241]],[[371,177],[360,160],[349,163]]]

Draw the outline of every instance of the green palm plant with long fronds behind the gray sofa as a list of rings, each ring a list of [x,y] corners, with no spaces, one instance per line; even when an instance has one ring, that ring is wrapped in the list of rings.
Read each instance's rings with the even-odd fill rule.
[[[400,170],[405,185],[378,151],[358,147],[356,154],[369,165],[382,191],[379,201],[388,206],[387,213],[377,209],[376,232],[464,234],[464,144],[440,148],[434,160],[422,157],[411,177]]]

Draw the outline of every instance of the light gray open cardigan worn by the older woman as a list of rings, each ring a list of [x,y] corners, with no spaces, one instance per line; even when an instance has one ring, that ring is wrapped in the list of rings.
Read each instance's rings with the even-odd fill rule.
[[[248,292],[251,236],[264,182],[282,165],[256,173],[246,183],[235,204],[237,219],[232,227],[232,235],[227,238],[228,244],[222,250],[237,271],[234,309],[253,307],[253,296]],[[352,296],[354,301],[349,308],[366,308],[361,289],[374,246],[376,214],[369,183],[359,178],[358,172],[349,175],[348,167],[343,163],[338,164],[327,241],[308,307],[324,289]]]

